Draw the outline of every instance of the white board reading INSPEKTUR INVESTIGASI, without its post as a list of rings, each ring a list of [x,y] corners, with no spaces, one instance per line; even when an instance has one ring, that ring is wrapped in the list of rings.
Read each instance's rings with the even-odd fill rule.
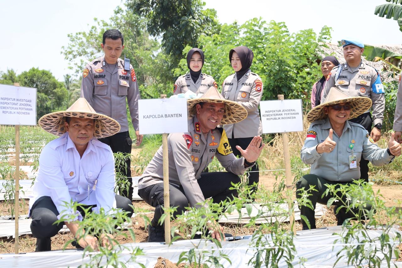
[[[0,84],[0,125],[36,124],[36,89]]]

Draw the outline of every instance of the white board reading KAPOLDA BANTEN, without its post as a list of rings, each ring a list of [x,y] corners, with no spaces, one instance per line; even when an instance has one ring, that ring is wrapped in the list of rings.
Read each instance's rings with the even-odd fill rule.
[[[187,99],[140,99],[139,134],[188,132]]]

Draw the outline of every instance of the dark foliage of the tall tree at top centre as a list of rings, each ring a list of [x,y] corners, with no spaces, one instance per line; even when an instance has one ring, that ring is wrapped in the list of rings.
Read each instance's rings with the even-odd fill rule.
[[[180,61],[186,45],[196,47],[201,34],[217,33],[216,11],[203,9],[201,0],[127,0],[127,8],[147,19],[148,32],[162,37],[162,47],[172,66]]]

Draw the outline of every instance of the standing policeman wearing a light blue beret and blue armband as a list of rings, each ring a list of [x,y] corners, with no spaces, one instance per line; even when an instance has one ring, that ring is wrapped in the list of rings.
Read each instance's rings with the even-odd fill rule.
[[[341,43],[346,63],[334,67],[328,74],[321,102],[324,101],[331,87],[336,87],[351,97],[369,97],[373,102],[373,118],[371,118],[370,111],[367,110],[350,121],[363,126],[370,133],[374,142],[377,142],[381,137],[385,110],[385,91],[381,78],[375,68],[362,62],[363,43],[351,40],[342,40]],[[374,128],[371,129],[373,122]],[[369,179],[368,162],[361,158],[360,178],[365,181]]]

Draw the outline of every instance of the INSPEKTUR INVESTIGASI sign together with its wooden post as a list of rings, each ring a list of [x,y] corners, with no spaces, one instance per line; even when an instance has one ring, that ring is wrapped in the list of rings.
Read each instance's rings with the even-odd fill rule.
[[[15,254],[18,254],[20,125],[36,125],[36,89],[0,84],[0,125],[15,125]]]

